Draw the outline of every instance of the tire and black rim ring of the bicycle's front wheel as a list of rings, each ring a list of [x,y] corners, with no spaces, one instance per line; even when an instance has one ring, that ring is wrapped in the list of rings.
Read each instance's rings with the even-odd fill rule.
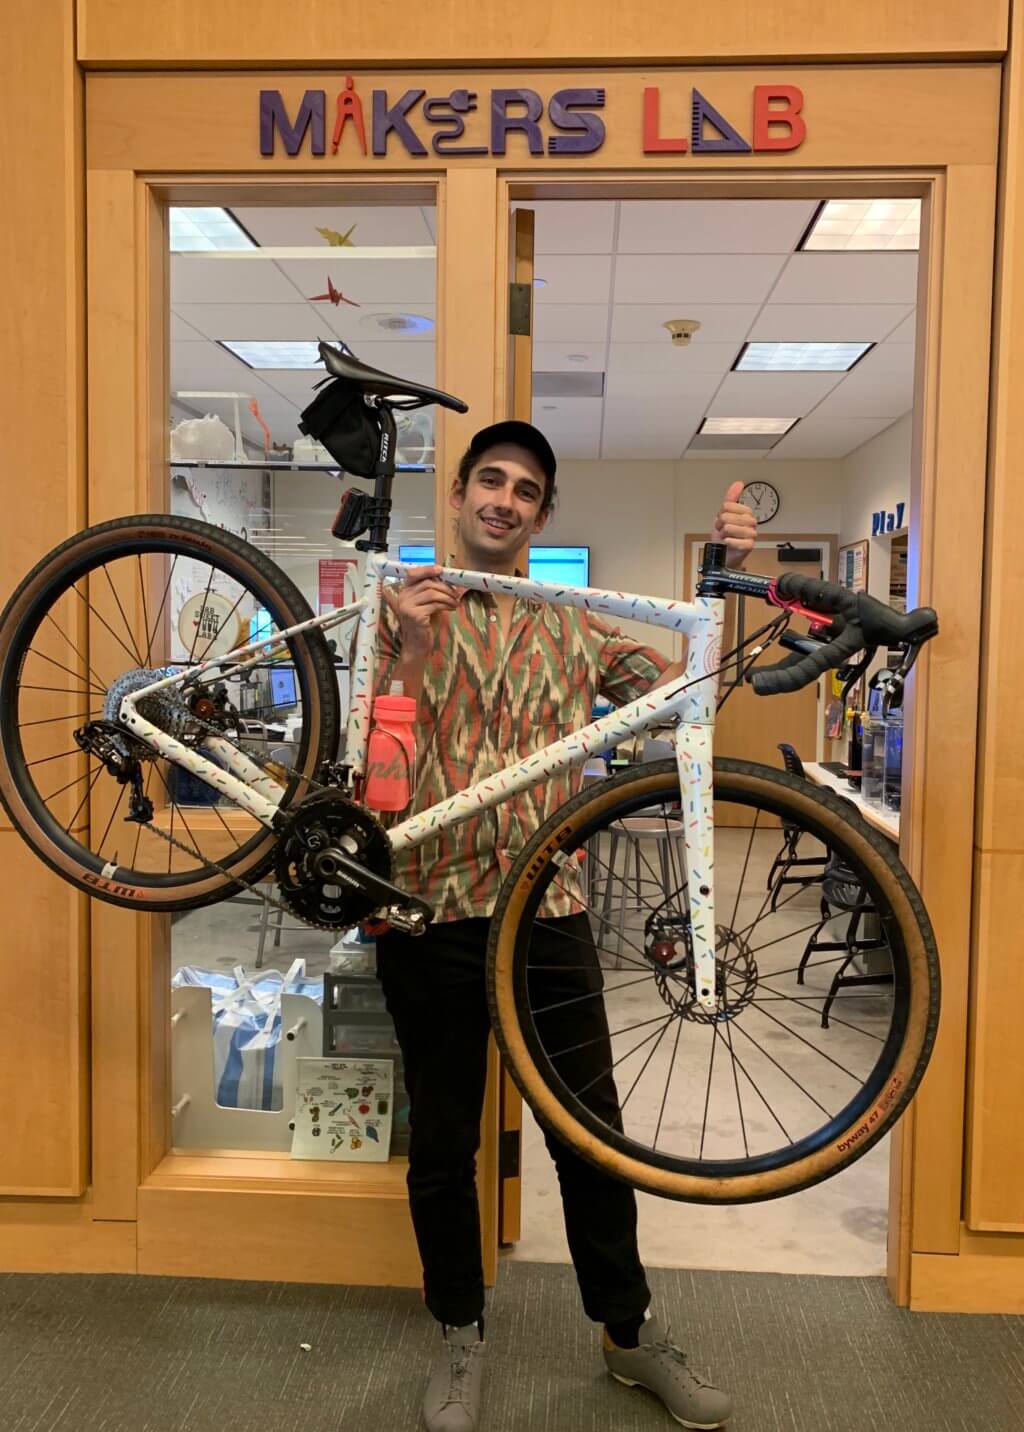
[[[861,1158],[907,1108],[928,1064],[940,1014],[940,967],[935,939],[921,896],[891,845],[848,803],[806,780],[752,762],[718,759],[715,796],[750,805],[816,833],[845,858],[859,862],[872,891],[888,902],[898,929],[895,947],[905,961],[907,1001],[902,1027],[879,1057],[861,1095],[813,1147],[798,1157],[735,1160],[729,1167],[672,1158],[632,1144],[623,1133],[593,1118],[554,1074],[531,1032],[526,1007],[530,928],[544,889],[564,862],[597,828],[659,798],[679,798],[675,760],[646,763],[584,789],[566,802],[521,851],[501,888],[491,921],[487,995],[496,1040],[524,1100],[540,1123],[579,1154],[636,1189],[695,1203],[755,1203],[811,1187]],[[879,906],[881,908],[881,906]],[[894,947],[894,962],[897,948]],[[894,981],[898,971],[894,968]],[[898,982],[898,981],[897,981]],[[895,1025],[894,1025],[895,1027]],[[738,1093],[739,1098],[739,1093]],[[655,1138],[657,1144],[657,1138]],[[703,1146],[702,1146],[703,1147]]]

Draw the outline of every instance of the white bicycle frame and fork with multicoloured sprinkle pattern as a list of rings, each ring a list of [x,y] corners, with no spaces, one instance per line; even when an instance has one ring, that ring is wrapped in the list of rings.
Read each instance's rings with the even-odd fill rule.
[[[120,705],[122,722],[135,736],[159,752],[165,760],[199,776],[201,780],[221,790],[229,800],[272,829],[278,816],[278,803],[284,795],[281,782],[225,737],[212,736],[198,748],[185,746],[146,720],[139,713],[137,703],[155,692],[183,686],[213,667],[218,669],[221,679],[235,676],[248,667],[265,663],[271,656],[279,656],[284,650],[282,642],[286,637],[298,636],[314,627],[327,632],[358,617],[359,630],[351,672],[345,765],[349,770],[349,779],[354,783],[359,782],[367,760],[382,586],[385,580],[398,581],[404,574],[405,567],[401,563],[388,561],[377,553],[369,553],[359,601],[347,607],[335,607],[334,611],[278,632],[269,642],[253,642],[248,646],[239,646],[225,656],[199,662],[196,666],[182,669],[173,676],[163,677],[130,696],[125,696]],[[440,577],[453,587],[468,587],[474,591],[580,607],[602,616],[627,617],[633,621],[644,621],[649,626],[679,632],[689,637],[686,672],[680,682],[656,687],[639,700],[612,712],[610,716],[603,716],[600,720],[583,726],[563,740],[556,740],[523,760],[514,760],[477,785],[392,826],[388,831],[392,849],[397,852],[422,845],[438,832],[478,815],[480,811],[500,805],[520,790],[540,785],[570,766],[581,765],[590,756],[599,755],[610,746],[617,746],[629,736],[636,736],[655,726],[675,725],[676,760],[683,800],[696,995],[705,1010],[715,1010],[712,737],[725,603],[719,597],[697,597],[693,603],[665,601],[657,597],[640,597],[623,591],[602,591],[596,587],[557,587],[544,581],[530,581],[526,577],[503,577],[493,573],[463,571],[454,567],[441,569]],[[209,755],[203,755],[203,752]],[[113,872],[109,872],[107,878],[113,878]]]

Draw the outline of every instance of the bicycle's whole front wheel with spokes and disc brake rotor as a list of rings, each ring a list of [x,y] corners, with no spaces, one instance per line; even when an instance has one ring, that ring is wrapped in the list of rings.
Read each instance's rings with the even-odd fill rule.
[[[523,1097],[580,1154],[649,1193],[752,1203],[892,1128],[935,1038],[938,958],[907,871],[849,802],[740,760],[715,762],[715,1012],[693,984],[673,760],[583,790],[530,841],[494,912],[488,998]],[[534,952],[581,848],[591,938]]]

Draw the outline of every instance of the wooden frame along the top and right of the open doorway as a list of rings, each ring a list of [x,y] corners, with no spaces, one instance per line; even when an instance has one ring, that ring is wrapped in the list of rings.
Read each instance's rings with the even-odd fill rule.
[[[922,1279],[932,1277],[928,1257],[960,1254],[962,1234],[975,769],[962,762],[955,733],[975,729],[981,677],[981,563],[965,563],[962,553],[981,551],[984,534],[995,155],[990,159],[899,173],[881,166],[771,176],[520,172],[503,176],[498,193],[503,212],[513,200],[544,198],[921,199],[909,503],[921,521],[911,543],[908,589],[915,604],[950,613],[944,624],[950,643],[918,663],[905,723],[908,809],[942,811],[928,826],[911,813],[901,836],[901,856],[925,896],[944,957],[935,1051],[891,1143],[887,1276],[892,1299],[911,1306],[915,1267]],[[958,282],[944,285],[951,255]],[[507,266],[500,269],[498,291],[501,281],[507,282]],[[965,481],[972,498],[967,516]]]

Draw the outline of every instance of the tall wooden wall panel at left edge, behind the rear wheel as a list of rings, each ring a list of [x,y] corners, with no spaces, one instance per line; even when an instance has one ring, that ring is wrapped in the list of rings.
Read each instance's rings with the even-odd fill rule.
[[[44,102],[40,102],[43,100]],[[0,601],[84,517],[83,90],[72,9],[4,16],[0,46],[0,431],[9,464]],[[0,1193],[77,1194],[87,1179],[84,902],[0,821]]]

